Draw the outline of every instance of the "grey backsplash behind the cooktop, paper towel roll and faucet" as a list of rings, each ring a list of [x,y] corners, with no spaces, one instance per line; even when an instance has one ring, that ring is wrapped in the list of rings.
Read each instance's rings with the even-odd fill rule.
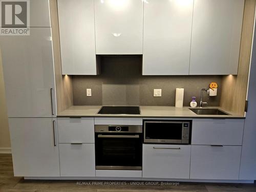
[[[200,100],[202,88],[218,83],[218,95],[209,98],[209,106],[219,106],[222,76],[142,76],[140,56],[102,57],[101,74],[73,76],[74,105],[175,105],[176,88],[184,88],[184,106],[191,97]],[[86,89],[92,89],[92,97]],[[162,97],[153,97],[153,89],[162,89]],[[206,95],[205,95],[206,98]]]

